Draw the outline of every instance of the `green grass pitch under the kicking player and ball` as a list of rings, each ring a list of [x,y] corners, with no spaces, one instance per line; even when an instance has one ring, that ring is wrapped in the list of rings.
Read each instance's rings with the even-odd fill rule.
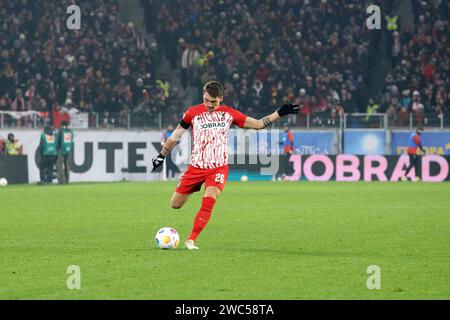
[[[0,188],[0,299],[450,298],[449,183],[229,182],[195,252],[155,245],[175,186]]]

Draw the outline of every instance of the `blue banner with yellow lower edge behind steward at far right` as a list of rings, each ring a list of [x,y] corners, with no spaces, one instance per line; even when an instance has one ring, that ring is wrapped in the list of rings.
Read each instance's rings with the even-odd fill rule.
[[[408,148],[408,138],[411,132],[392,132],[392,154],[403,154]],[[450,155],[450,132],[424,132],[422,146],[427,154]]]

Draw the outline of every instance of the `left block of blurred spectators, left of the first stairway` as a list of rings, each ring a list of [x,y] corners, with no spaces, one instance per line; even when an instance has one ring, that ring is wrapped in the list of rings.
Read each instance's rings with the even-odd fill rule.
[[[168,95],[155,79],[156,43],[119,21],[118,0],[76,1],[81,30],[66,28],[72,2],[2,1],[0,110],[53,118],[74,107],[111,124],[130,112],[144,118],[167,108]],[[27,118],[20,123],[30,125]]]

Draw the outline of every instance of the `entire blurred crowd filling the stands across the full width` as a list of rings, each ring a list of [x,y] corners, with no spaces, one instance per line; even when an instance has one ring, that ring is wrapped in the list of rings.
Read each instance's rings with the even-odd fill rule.
[[[76,108],[99,113],[105,126],[126,126],[129,115],[145,124],[160,112],[176,121],[185,90],[201,99],[210,79],[224,83],[225,103],[249,114],[293,101],[312,118],[387,112],[405,125],[410,112],[423,122],[424,112],[449,110],[448,1],[413,0],[414,28],[381,38],[392,68],[376,93],[367,1],[140,0],[154,38],[120,22],[118,0],[76,1],[82,28],[68,30],[72,2],[2,1],[0,111],[53,117]],[[392,9],[392,0],[376,2]],[[157,76],[164,58],[178,90]]]

